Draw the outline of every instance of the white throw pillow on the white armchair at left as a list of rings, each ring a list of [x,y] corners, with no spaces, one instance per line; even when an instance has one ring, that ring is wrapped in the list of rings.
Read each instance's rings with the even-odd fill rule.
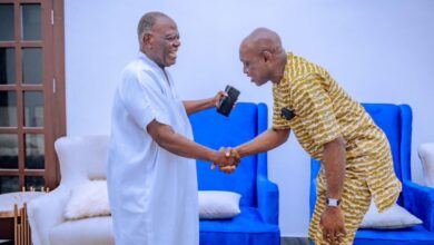
[[[91,180],[72,189],[65,210],[67,219],[110,215],[107,182]]]

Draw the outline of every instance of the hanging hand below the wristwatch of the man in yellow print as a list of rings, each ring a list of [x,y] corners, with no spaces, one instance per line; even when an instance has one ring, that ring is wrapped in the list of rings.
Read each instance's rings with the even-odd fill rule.
[[[326,206],[320,215],[319,225],[323,229],[323,238],[329,244],[341,244],[346,235],[344,213],[341,207]]]

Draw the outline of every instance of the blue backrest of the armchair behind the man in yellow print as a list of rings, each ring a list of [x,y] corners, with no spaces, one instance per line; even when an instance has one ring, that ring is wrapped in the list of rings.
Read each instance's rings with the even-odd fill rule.
[[[411,180],[411,140],[412,140],[412,109],[408,105],[392,104],[362,104],[374,119],[375,124],[386,134],[391,145],[393,164],[397,178],[401,182]],[[310,184],[319,171],[319,161],[312,159]],[[314,185],[310,185],[310,209],[315,199]],[[403,205],[403,195],[398,204]]]

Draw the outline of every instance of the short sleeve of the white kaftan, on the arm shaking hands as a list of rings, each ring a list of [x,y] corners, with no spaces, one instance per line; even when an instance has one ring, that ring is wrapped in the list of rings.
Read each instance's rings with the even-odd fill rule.
[[[152,78],[141,75],[139,79],[138,75],[131,70],[124,71],[120,97],[126,110],[137,125],[145,130],[154,119],[169,125],[166,109],[157,108],[158,102],[156,105],[156,101],[152,101],[156,99],[156,96],[152,95],[152,87],[149,82],[141,81],[146,79]]]

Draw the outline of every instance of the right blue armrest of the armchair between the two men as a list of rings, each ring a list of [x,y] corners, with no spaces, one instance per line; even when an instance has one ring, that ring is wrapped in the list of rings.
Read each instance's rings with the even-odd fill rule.
[[[258,210],[268,224],[278,225],[279,190],[276,184],[263,176],[257,179]]]

